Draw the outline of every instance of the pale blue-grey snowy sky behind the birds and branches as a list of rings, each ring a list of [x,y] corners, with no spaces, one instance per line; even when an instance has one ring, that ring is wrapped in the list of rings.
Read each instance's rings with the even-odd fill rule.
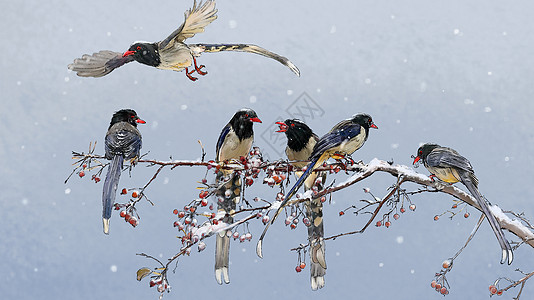
[[[97,140],[102,153],[112,113],[127,107],[147,121],[140,130],[150,158],[197,159],[199,139],[213,158],[220,129],[243,106],[263,120],[255,126],[256,145],[277,158],[271,148],[276,136],[260,135],[278,117],[288,117],[306,92],[324,110],[307,119],[319,135],[354,113],[373,116],[380,129],[355,159],[409,164],[421,142],[451,146],[471,160],[491,202],[534,216],[531,1],[219,1],[219,18],[191,43],[255,43],[290,58],[302,77],[244,53],[203,55],[199,62],[209,74],[197,82],[136,63],[100,79],[67,70],[84,53],[125,51],[136,40],[165,38],[191,2],[2,1],[3,299],[157,297],[146,280],[135,281],[139,267],[155,264],[135,253],[165,259],[178,250],[172,209],[196,197],[204,171],[164,171],[148,190],[156,205],[138,206],[140,225],[132,229],[114,215],[110,236],[101,228],[102,183],[87,176],[63,183],[71,151],[87,151]],[[139,166],[131,178],[124,174],[120,186],[142,186],[154,171]],[[327,234],[364,223],[337,216],[367,196],[362,187],[382,196],[393,182],[377,174],[336,194],[326,207]],[[253,194],[272,199],[275,192],[256,184]],[[213,278],[210,239],[205,252],[180,260],[166,297],[441,299],[429,286],[433,274],[463,244],[479,214],[469,209],[469,219],[434,222],[452,199],[433,194],[413,200],[416,212],[389,229],[373,226],[364,235],[328,242],[326,287],[318,292],[310,290],[308,269],[295,273],[297,257],[288,251],[305,241],[305,229],[276,224],[259,260],[254,246],[262,227],[255,223],[252,243],[232,243],[229,286]],[[511,267],[498,263],[499,253],[484,224],[455,262],[448,299],[486,299],[499,276],[519,278],[513,269],[534,267],[531,248],[517,250]],[[533,294],[529,283],[524,298]]]

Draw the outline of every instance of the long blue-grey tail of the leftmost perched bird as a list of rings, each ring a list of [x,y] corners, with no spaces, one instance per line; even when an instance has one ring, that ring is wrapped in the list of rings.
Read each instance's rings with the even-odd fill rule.
[[[104,189],[102,191],[102,222],[104,225],[104,233],[109,234],[109,219],[111,218],[111,211],[113,203],[115,203],[115,196],[117,194],[117,186],[119,185],[119,178],[122,170],[122,155],[115,155],[111,160],[108,168],[106,180],[104,180]]]

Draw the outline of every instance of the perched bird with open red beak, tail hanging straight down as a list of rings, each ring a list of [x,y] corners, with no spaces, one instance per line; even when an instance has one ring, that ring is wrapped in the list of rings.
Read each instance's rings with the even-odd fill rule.
[[[305,123],[297,119],[287,119],[284,122],[276,122],[280,126],[277,132],[284,132],[287,137],[286,155],[296,168],[302,169],[306,166],[310,158],[313,147],[319,137]],[[297,177],[302,176],[302,172],[295,172]],[[304,190],[312,189],[316,182],[317,173],[308,177],[304,182]],[[324,183],[325,174],[321,176],[321,183]],[[304,202],[306,207],[306,217],[310,220],[308,226],[308,240],[310,242],[310,283],[312,290],[324,287],[324,275],[326,274],[324,226],[323,226],[323,203],[320,199]]]

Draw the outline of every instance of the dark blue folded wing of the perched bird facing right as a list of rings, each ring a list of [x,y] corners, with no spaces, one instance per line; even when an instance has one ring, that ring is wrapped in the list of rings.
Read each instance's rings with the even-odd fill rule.
[[[360,134],[361,126],[350,120],[343,120],[336,124],[330,132],[322,136],[310,156],[311,158],[321,156],[325,151],[340,146],[342,143],[349,141]]]

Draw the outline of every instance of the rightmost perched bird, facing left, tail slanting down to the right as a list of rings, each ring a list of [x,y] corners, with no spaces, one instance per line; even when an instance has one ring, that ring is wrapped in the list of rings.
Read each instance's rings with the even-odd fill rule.
[[[507,258],[508,264],[511,264],[514,259],[512,248],[504,237],[499,222],[491,213],[486,199],[478,191],[478,178],[475,176],[475,171],[469,160],[451,148],[441,147],[436,144],[424,144],[419,147],[413,163],[416,164],[419,160],[422,160],[425,168],[432,173],[431,177],[437,177],[439,180],[450,184],[462,182],[467,187],[471,195],[477,200],[499,241],[499,245],[502,248],[501,264]]]

